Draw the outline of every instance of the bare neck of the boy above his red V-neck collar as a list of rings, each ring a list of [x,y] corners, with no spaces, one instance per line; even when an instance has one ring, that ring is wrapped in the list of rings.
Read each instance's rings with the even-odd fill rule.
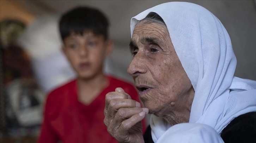
[[[104,74],[99,74],[92,79],[78,78],[77,84],[78,101],[89,105],[108,86],[109,81]]]

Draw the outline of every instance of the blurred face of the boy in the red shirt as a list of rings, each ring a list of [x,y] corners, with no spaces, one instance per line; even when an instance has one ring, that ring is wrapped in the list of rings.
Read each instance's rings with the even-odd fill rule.
[[[83,35],[71,33],[64,39],[63,52],[78,77],[91,79],[102,74],[104,58],[111,53],[112,42],[103,35],[85,32]]]

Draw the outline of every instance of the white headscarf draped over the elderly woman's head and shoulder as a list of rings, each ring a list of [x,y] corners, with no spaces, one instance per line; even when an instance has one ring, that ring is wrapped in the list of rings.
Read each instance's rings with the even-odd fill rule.
[[[134,16],[131,34],[136,22],[150,12],[164,20],[195,89],[189,123],[209,125],[220,134],[235,117],[256,111],[256,81],[233,76],[236,57],[230,37],[218,18],[196,4],[167,2]],[[171,133],[172,127],[164,120],[152,115],[150,125],[154,142],[159,142],[160,137],[169,138],[166,132]]]

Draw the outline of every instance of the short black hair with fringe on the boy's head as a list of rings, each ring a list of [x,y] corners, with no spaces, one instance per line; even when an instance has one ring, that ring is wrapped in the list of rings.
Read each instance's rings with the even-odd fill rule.
[[[98,9],[91,7],[77,7],[64,13],[59,21],[61,39],[64,41],[71,32],[83,35],[85,31],[102,34],[108,39],[108,19]]]

